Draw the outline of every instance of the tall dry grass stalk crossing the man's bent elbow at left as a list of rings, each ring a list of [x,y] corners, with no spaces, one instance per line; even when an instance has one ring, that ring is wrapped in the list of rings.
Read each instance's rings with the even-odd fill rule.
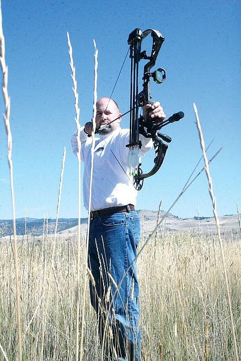
[[[67,32],[69,57],[70,57],[70,69],[71,79],[73,82],[73,93],[74,93],[74,109],[75,109],[75,124],[76,124],[76,139],[77,139],[77,160],[78,160],[78,241],[77,241],[77,283],[76,283],[76,334],[75,334],[75,361],[78,361],[78,343],[79,343],[79,282],[80,282],[80,255],[81,255],[81,140],[79,138],[81,125],[79,124],[79,107],[78,107],[78,92],[77,92],[77,80],[75,74],[75,67],[73,61],[73,50],[70,42],[69,33]]]

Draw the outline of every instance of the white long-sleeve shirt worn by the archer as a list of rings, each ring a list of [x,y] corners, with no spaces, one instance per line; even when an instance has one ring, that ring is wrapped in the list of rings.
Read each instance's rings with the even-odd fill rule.
[[[76,133],[71,138],[73,152],[78,151]],[[83,196],[86,209],[89,208],[89,188],[91,169],[92,138],[80,132],[81,159],[85,163]],[[152,140],[140,135],[142,147],[139,156],[143,156],[152,147]],[[91,210],[122,206],[136,205],[137,190],[128,175],[127,157],[129,148],[129,130],[117,128],[108,135],[98,135],[95,138],[93,179],[91,194]]]

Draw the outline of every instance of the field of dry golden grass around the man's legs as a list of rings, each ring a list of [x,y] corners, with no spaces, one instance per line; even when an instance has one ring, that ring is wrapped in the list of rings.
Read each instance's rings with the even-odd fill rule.
[[[140,243],[144,241],[142,237]],[[26,361],[75,359],[76,247],[75,237],[58,237],[51,269],[53,237],[18,238],[23,359]],[[223,247],[240,353],[240,233],[224,236]],[[85,242],[82,242],[81,305],[84,264]],[[15,361],[16,292],[9,239],[1,240],[0,265],[0,344],[7,359]],[[138,276],[142,360],[235,360],[224,269],[215,235],[166,233],[159,229],[140,254]],[[96,317],[88,297],[85,307],[83,359],[99,361]],[[108,332],[107,337],[111,337]],[[6,356],[0,352],[0,360]]]

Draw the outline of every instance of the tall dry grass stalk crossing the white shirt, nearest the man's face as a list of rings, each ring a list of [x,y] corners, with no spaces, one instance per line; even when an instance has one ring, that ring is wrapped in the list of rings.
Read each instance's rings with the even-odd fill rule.
[[[87,227],[87,239],[86,239],[86,258],[85,258],[85,273],[84,273],[84,293],[82,303],[82,325],[81,325],[81,352],[79,360],[82,361],[83,357],[83,341],[84,341],[84,324],[85,324],[85,302],[86,302],[86,288],[87,288],[87,267],[88,267],[88,247],[89,247],[89,234],[90,234],[90,210],[91,210],[91,194],[92,194],[92,180],[93,180],[93,166],[94,166],[94,133],[96,129],[96,101],[97,101],[97,57],[98,50],[96,49],[95,40],[94,42],[94,96],[93,96],[93,116],[92,116],[92,145],[91,145],[91,168],[90,168],[90,187],[89,187],[89,209],[88,209],[88,227]]]

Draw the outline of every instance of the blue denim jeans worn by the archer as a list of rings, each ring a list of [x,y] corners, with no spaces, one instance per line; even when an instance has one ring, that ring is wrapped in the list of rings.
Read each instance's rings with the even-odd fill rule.
[[[90,222],[88,263],[95,280],[95,285],[90,281],[90,298],[108,360],[139,361],[136,261],[127,271],[136,256],[139,235],[136,211],[97,217]]]

